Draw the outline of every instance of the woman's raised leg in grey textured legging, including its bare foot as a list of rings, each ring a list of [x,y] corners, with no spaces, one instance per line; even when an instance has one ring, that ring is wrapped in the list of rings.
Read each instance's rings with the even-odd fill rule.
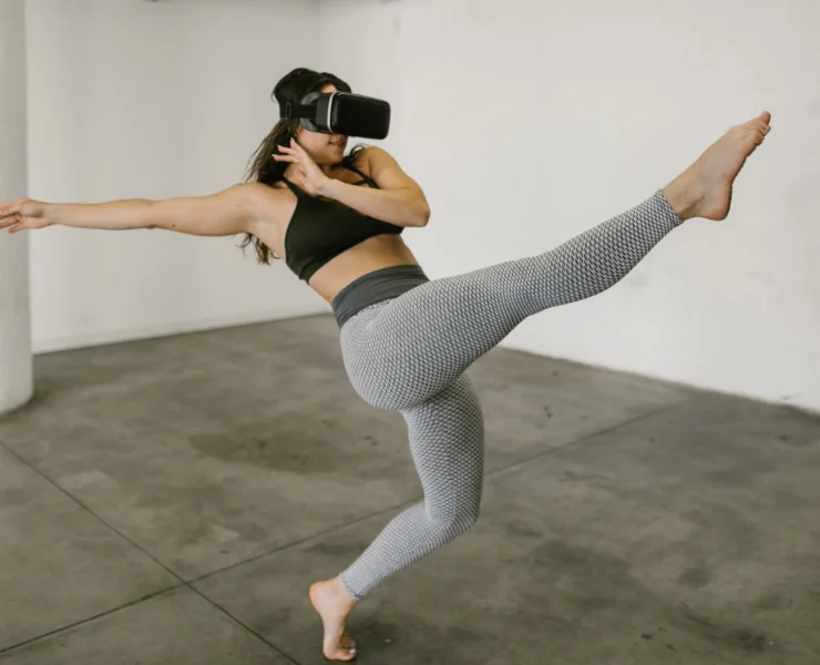
[[[433,279],[349,320],[341,337],[353,388],[378,408],[422,403],[526,317],[615,285],[685,219],[724,219],[769,117],[732,127],[667,187],[554,249]]]

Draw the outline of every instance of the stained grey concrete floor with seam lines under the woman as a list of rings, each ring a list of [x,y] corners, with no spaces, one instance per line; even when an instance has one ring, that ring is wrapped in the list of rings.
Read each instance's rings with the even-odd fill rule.
[[[3,665],[324,663],[306,591],[421,488],[329,316],[41,355],[0,418]],[[494,349],[479,523],[359,663],[820,663],[820,418]]]

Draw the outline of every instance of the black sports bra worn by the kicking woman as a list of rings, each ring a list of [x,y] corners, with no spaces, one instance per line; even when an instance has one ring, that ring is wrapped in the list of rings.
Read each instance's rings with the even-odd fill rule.
[[[346,167],[362,177],[355,184],[378,188],[370,176],[353,166]],[[308,282],[331,258],[369,237],[404,231],[403,226],[362,215],[338,201],[310,196],[284,176],[281,180],[296,194],[296,208],[285,231],[285,258],[299,279]]]

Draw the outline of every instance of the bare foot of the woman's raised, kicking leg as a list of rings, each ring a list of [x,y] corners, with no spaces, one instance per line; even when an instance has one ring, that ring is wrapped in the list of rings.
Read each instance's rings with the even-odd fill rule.
[[[726,219],[731,206],[731,185],[746,160],[769,133],[770,120],[767,111],[731,127],[664,188],[664,196],[678,217]]]

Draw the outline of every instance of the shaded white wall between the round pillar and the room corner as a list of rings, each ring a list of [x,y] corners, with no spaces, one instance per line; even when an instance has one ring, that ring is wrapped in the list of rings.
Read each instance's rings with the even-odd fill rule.
[[[29,195],[102,202],[242,181],[278,119],[276,81],[317,66],[316,1],[28,0]],[[35,352],[317,310],[242,236],[33,232]]]

